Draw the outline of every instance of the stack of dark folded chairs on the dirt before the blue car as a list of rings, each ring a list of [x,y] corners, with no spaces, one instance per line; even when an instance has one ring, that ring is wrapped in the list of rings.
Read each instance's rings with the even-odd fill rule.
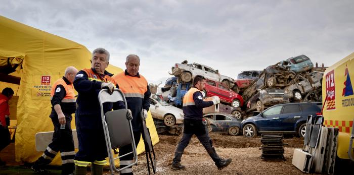
[[[262,144],[261,159],[282,159],[284,160],[284,137],[283,134],[262,134],[260,142]]]

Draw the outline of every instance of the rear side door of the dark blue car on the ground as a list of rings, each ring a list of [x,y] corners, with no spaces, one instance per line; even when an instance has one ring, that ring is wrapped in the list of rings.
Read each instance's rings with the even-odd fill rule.
[[[286,104],[279,115],[279,131],[294,131],[296,122],[301,119],[299,104]]]

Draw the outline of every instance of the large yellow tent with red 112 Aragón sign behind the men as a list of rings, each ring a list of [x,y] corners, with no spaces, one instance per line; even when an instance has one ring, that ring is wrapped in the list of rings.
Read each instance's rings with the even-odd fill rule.
[[[33,162],[41,155],[35,150],[35,134],[53,131],[48,117],[51,111],[51,85],[64,75],[68,66],[78,70],[90,68],[91,52],[76,42],[2,16],[0,41],[0,87],[10,86],[18,96],[16,161]],[[107,71],[116,74],[122,70],[110,65]],[[150,119],[147,121],[148,127],[156,144],[159,140]],[[75,129],[74,120],[71,126]],[[143,152],[144,146],[139,145],[138,151]],[[53,164],[61,163],[58,157]]]

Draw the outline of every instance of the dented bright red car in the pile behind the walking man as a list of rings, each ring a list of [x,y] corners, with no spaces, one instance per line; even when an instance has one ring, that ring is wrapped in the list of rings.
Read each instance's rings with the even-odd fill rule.
[[[223,103],[231,104],[233,107],[241,107],[243,98],[241,95],[227,88],[222,83],[206,80],[203,97],[218,96]]]

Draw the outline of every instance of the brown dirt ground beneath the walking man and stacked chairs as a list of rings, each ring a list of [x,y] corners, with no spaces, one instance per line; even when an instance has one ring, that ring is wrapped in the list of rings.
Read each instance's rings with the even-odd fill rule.
[[[186,165],[186,170],[172,170],[170,165],[181,136],[159,135],[160,142],[154,147],[157,174],[302,174],[291,164],[293,150],[302,147],[302,138],[284,139],[284,143],[288,144],[284,153],[286,161],[264,161],[260,159],[260,137],[245,138],[215,133],[210,137],[221,157],[233,159],[228,167],[218,170],[198,139],[193,137],[182,156],[181,163]],[[133,169],[136,174],[147,173],[145,154],[139,156],[139,164]]]

